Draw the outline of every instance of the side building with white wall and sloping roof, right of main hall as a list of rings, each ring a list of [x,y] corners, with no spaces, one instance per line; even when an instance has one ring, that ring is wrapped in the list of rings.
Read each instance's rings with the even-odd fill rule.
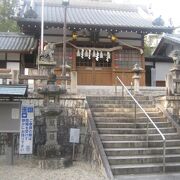
[[[180,48],[180,34],[164,34],[152,56],[145,58],[146,85],[165,86],[165,78],[173,65],[171,53]]]

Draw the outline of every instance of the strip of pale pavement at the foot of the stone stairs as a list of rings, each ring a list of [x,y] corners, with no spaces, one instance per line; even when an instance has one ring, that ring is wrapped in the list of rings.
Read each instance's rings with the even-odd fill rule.
[[[180,173],[117,176],[115,180],[180,180]]]

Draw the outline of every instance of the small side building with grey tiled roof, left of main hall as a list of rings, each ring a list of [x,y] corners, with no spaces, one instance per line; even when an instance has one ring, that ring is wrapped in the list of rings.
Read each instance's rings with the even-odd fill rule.
[[[13,73],[24,74],[36,66],[37,40],[23,33],[0,32],[0,84],[9,84]]]

